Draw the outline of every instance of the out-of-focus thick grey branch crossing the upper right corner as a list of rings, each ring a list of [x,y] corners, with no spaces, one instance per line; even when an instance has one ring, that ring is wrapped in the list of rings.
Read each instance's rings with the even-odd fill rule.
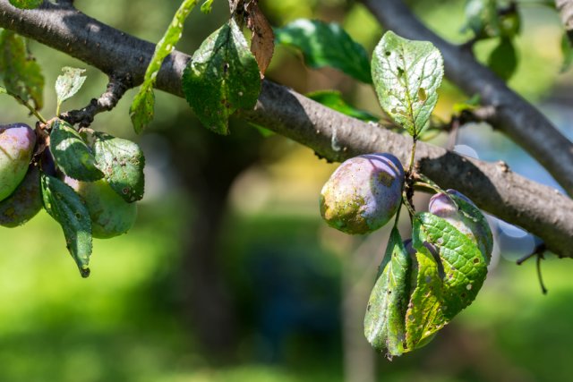
[[[573,195],[573,143],[544,115],[479,64],[471,51],[449,44],[427,29],[401,0],[363,0],[363,3],[389,30],[405,38],[432,41],[444,57],[449,80],[467,95],[479,94],[484,106],[495,107],[496,113],[488,121],[526,149]]]

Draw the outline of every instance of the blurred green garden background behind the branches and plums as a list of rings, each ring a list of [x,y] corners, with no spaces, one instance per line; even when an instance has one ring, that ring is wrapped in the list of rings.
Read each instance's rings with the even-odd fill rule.
[[[83,12],[140,38],[158,41],[177,2],[76,0]],[[192,53],[228,17],[193,13],[180,50]],[[382,30],[360,4],[343,0],[261,2],[274,26],[299,17],[338,21],[369,52]],[[463,2],[414,2],[434,30],[457,42]],[[509,84],[537,102],[571,136],[571,73],[560,73],[559,19],[526,4],[520,62]],[[47,79],[44,115],[54,113],[53,84],[73,58],[32,43]],[[477,53],[487,56],[489,42]],[[64,106],[97,97],[106,78],[88,81]],[[374,92],[333,70],[304,68],[278,47],[267,77],[299,92],[339,89],[380,115]],[[363,338],[363,310],[384,250],[386,230],[351,238],[321,222],[318,195],[336,168],[278,136],[263,138],[235,120],[232,134],[207,132],[183,99],[157,93],[156,119],[133,134],[130,91],[92,127],[138,141],[146,153],[146,197],[124,236],[94,243],[92,274],[81,279],[60,227],[45,212],[0,229],[0,381],[569,381],[573,372],[573,282],[569,259],[543,261],[543,296],[521,233],[503,231],[496,260],[475,303],[423,349],[393,361]],[[449,118],[463,100],[442,89],[437,112]],[[2,123],[32,123],[0,98]],[[506,160],[541,182],[552,180],[488,126],[460,138],[488,160]],[[444,136],[435,142],[443,143]],[[552,183],[553,184],[553,183]],[[427,196],[416,199],[424,208]],[[406,218],[402,219],[406,221]],[[512,234],[507,234],[507,233]],[[515,232],[514,232],[515,233]],[[403,235],[408,233],[403,231]],[[512,239],[513,238],[513,239]],[[511,261],[509,261],[511,260]]]

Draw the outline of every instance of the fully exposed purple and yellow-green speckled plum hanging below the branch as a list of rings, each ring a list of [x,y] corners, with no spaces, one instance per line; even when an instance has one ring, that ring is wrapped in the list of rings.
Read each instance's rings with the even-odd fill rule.
[[[371,233],[396,214],[404,168],[391,154],[353,157],[330,175],[321,191],[321,215],[345,233]]]

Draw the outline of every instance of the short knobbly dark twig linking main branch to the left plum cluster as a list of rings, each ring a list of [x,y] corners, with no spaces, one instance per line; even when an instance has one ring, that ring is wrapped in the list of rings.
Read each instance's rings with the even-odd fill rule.
[[[92,98],[88,106],[63,113],[59,117],[68,123],[80,123],[80,127],[88,127],[93,123],[96,115],[112,110],[124,96],[125,91],[130,88],[131,77],[129,74],[121,78],[112,76],[109,78],[109,83],[107,83],[106,92],[99,98]]]

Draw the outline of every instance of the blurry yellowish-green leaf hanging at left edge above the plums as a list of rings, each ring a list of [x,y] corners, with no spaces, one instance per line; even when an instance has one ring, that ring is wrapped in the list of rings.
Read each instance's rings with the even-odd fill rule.
[[[11,30],[3,30],[0,35],[0,78],[13,97],[23,102],[32,101],[35,110],[42,108],[44,76],[26,51],[25,39]]]

